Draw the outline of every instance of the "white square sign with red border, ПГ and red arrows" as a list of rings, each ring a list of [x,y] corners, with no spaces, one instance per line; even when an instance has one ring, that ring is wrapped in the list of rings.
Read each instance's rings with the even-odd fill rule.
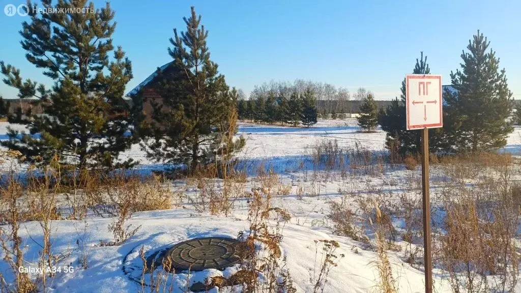
[[[407,75],[407,130],[443,126],[441,75]]]

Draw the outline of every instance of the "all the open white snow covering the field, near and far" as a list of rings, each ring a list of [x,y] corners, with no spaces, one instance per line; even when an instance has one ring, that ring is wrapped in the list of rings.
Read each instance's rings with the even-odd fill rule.
[[[0,123],[0,139],[5,139],[2,134],[5,134],[6,126],[6,123]],[[15,127],[22,129],[20,126]],[[332,268],[324,292],[362,293],[377,290],[377,252],[369,249],[367,243],[333,233],[333,223],[329,218],[331,202],[340,203],[344,200],[348,206],[358,210],[360,208],[356,207],[356,203],[367,201],[369,198],[386,199],[393,203],[399,203],[401,196],[419,199],[421,197],[418,188],[421,186],[419,167],[411,171],[403,166],[395,166],[383,168],[378,172],[347,176],[340,172],[323,170],[312,172],[311,168],[302,168],[299,162],[304,162],[304,165],[311,164],[312,145],[324,139],[336,139],[339,146],[346,150],[361,148],[375,154],[383,153],[385,133],[379,129],[374,133],[361,133],[354,119],[320,120],[310,128],[241,123],[238,135],[246,138],[246,146],[238,155],[239,159],[242,162],[254,162],[257,165],[261,162],[272,166],[278,173],[279,186],[288,189],[286,192],[277,192],[272,199],[272,204],[286,209],[291,215],[291,220],[283,227],[280,246],[282,258],[287,260],[287,269],[293,277],[297,292],[313,292],[314,276],[319,266],[315,240],[336,240],[340,243],[340,247],[335,254],[345,255],[338,261],[338,266]],[[502,151],[514,155],[521,154],[521,128],[515,129]],[[146,160],[139,145],[134,145],[121,157],[139,160],[141,169],[161,168],[159,164]],[[253,173],[250,175],[241,186],[245,192],[261,187],[261,183]],[[511,179],[521,178],[517,172],[517,175]],[[446,180],[442,168],[433,166],[431,197],[434,206],[441,200]],[[81,221],[52,221],[52,251],[56,255],[63,255],[60,263],[72,266],[74,270],[58,273],[51,280],[47,280],[47,291],[138,292],[141,288],[140,284],[130,279],[132,272],[125,271],[125,267],[134,267],[138,270],[140,257],[137,251],[140,247],[143,246],[147,255],[150,255],[154,251],[194,237],[235,238],[240,231],[250,229],[248,199],[235,199],[231,215],[228,217],[212,216],[207,212],[197,211],[192,204],[193,201],[188,200],[200,195],[201,190],[181,181],[171,183],[168,187],[172,191],[184,194],[178,206],[170,210],[134,213],[128,224],[132,224],[132,227],[141,226],[141,228],[120,246],[96,246],[100,241],[112,239],[113,236],[107,227],[114,218],[89,215]],[[434,231],[437,233],[436,227],[441,225],[443,212],[435,209],[432,217]],[[401,217],[392,217],[391,221],[401,235],[406,229],[405,220]],[[22,247],[27,266],[36,266],[41,251],[41,231],[39,222],[21,223],[20,236],[23,239]],[[370,243],[375,241],[374,231],[371,231],[370,227],[367,228],[367,236]],[[86,249],[81,249],[77,243],[85,243]],[[416,247],[421,243],[421,238],[418,237],[416,245],[412,246],[401,237],[398,237],[396,243],[402,249],[389,251],[389,258],[399,291],[424,292],[423,267],[404,261],[406,248]],[[88,268],[82,268],[79,264],[85,251],[88,254]],[[320,253],[318,251],[318,258]],[[230,267],[224,272],[217,270],[196,273],[178,272],[168,281],[168,284],[172,285],[173,292],[190,292],[187,287],[193,283],[204,282],[205,278],[213,276],[228,277],[237,270],[238,267]],[[13,278],[10,268],[3,261],[0,261],[0,273],[8,280]],[[434,275],[436,292],[452,292],[445,272],[435,268]],[[32,276],[35,277],[35,274]],[[515,291],[521,291],[519,284]],[[213,288],[209,292],[233,291],[232,288],[227,287]]]

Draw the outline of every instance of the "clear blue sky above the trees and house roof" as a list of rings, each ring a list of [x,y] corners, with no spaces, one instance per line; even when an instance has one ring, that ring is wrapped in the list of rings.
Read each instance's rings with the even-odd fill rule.
[[[19,5],[24,0],[0,0]],[[105,1],[94,1],[101,7]],[[249,93],[256,84],[297,78],[328,82],[350,92],[373,91],[378,100],[393,99],[420,51],[432,74],[449,84],[460,67],[462,50],[479,29],[506,69],[515,99],[521,99],[521,1],[137,1],[113,0],[114,44],[132,60],[134,78],[127,91],[158,66],[170,62],[168,39],[184,30],[183,16],[194,5],[209,30],[211,58],[230,86]],[[47,85],[24,57],[21,22],[0,10],[0,60],[21,69],[23,78]],[[16,90],[0,83],[0,94]]]

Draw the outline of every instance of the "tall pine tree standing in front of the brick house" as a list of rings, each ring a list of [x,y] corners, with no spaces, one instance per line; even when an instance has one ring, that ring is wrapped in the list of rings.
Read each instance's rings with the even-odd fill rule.
[[[179,35],[173,30],[173,48],[168,48],[173,62],[158,75],[163,102],[152,106],[154,121],[142,124],[143,133],[151,133],[142,146],[153,160],[185,164],[193,173],[220,155],[220,138],[229,135],[222,133],[227,128],[222,126],[230,122],[236,103],[224,75],[210,60],[201,16],[192,7],[191,16],[183,20],[187,31]],[[234,146],[227,149],[235,151]]]

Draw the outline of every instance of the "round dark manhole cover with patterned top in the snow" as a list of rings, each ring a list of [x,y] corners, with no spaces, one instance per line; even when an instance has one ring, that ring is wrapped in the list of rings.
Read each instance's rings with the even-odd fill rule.
[[[171,258],[175,270],[223,270],[240,260],[236,254],[238,243],[229,238],[195,238],[176,244],[166,252],[165,257]]]

